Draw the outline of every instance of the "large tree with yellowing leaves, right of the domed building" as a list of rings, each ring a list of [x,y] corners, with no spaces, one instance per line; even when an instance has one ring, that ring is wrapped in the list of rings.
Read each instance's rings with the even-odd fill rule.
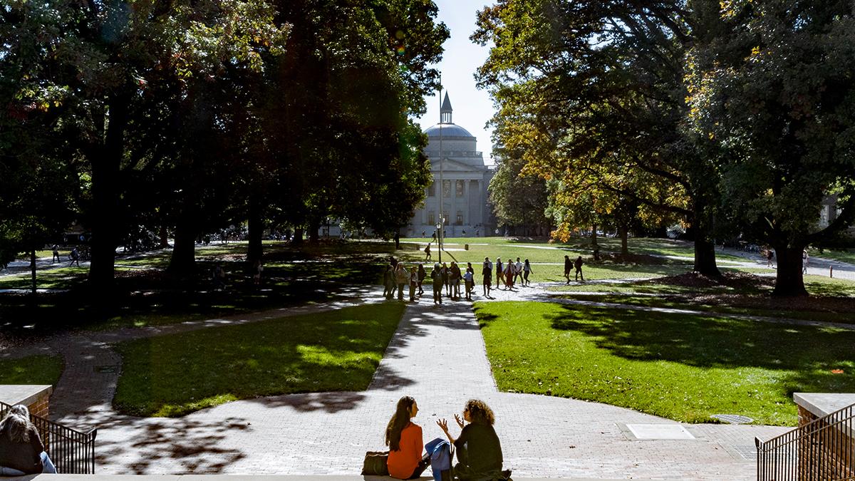
[[[683,133],[683,53],[693,21],[683,7],[500,0],[481,11],[473,39],[494,44],[478,70],[481,86],[498,116],[522,126],[504,145],[523,145],[531,167],[559,187],[578,189],[585,179],[615,199],[683,216],[696,235],[694,269],[717,275],[716,171]]]

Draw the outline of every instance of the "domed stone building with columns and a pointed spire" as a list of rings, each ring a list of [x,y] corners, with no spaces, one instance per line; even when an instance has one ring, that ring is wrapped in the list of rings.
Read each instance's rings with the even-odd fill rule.
[[[476,148],[475,136],[451,122],[451,112],[451,100],[446,92],[439,123],[425,130],[428,146],[424,152],[431,162],[433,183],[428,186],[424,205],[416,209],[410,219],[408,235],[414,237],[422,232],[430,236],[436,230],[440,218],[439,193],[442,194],[446,237],[483,236],[495,229],[486,190],[493,171],[484,164],[484,156]]]

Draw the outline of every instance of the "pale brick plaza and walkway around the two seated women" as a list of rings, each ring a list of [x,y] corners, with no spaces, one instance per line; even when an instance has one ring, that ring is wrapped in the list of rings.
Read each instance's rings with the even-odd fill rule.
[[[513,295],[533,298],[538,292],[530,288]],[[111,342],[366,301],[383,301],[380,291],[355,288],[328,305],[63,336],[2,357],[62,353],[66,370],[51,399],[51,417],[80,429],[97,426],[99,474],[355,475],[365,451],[383,448],[386,422],[402,395],[418,401],[415,422],[422,425],[425,441],[442,435],[437,419],[453,418],[469,398],[485,400],[496,413],[505,466],[518,478],[752,479],[754,436],[766,439],[787,431],[762,425],[679,425],[605,404],[499,392],[471,304],[433,306],[427,296],[408,304],[366,391],[235,401],[180,419],[140,419],[112,410],[121,358]],[[99,369],[105,365],[115,369]],[[674,438],[674,428],[682,438]]]

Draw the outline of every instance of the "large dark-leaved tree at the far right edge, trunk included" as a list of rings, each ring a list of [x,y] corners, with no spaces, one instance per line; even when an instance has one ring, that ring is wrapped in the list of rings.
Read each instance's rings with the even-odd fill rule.
[[[687,57],[689,119],[715,145],[727,214],[775,248],[775,294],[803,295],[802,250],[855,218],[855,6],[723,4]],[[820,229],[828,194],[840,215]]]

